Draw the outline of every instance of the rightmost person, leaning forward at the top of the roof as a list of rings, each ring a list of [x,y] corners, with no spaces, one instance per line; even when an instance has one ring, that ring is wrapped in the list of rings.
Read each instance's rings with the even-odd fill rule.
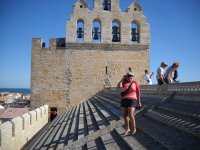
[[[180,66],[180,64],[178,62],[174,62],[172,64],[172,66],[170,66],[165,74],[164,74],[164,80],[166,83],[174,83],[173,81],[173,78],[174,78],[174,72],[175,70],[177,70],[177,68]]]

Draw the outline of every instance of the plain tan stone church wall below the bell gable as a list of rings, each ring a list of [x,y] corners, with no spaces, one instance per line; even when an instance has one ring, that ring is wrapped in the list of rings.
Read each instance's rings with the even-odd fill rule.
[[[92,97],[104,87],[116,87],[132,68],[143,83],[149,67],[146,45],[66,43],[42,47],[42,39],[33,39],[31,72],[31,106],[48,104],[60,110]]]

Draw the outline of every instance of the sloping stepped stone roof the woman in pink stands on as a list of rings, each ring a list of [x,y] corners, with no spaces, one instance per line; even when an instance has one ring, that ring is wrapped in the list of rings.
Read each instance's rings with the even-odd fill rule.
[[[123,136],[120,90],[105,89],[56,117],[24,149],[198,149],[200,82],[141,86],[137,133]]]

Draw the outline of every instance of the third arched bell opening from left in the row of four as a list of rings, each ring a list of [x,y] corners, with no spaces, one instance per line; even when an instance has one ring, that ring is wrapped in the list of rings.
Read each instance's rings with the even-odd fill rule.
[[[120,42],[121,41],[121,25],[120,22],[114,20],[112,22],[112,42]]]

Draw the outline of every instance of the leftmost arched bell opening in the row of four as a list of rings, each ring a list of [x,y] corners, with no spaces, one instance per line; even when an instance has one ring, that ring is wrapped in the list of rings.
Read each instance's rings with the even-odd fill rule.
[[[84,41],[84,21],[82,19],[79,19],[77,21],[76,41],[77,42],[83,42]]]

